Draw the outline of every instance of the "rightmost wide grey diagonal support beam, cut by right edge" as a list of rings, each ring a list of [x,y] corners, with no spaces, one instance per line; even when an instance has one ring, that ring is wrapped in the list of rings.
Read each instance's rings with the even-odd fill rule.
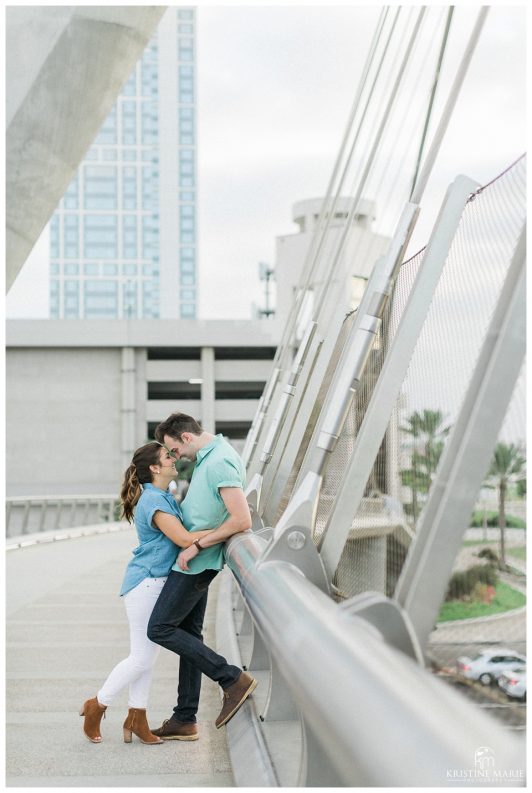
[[[526,345],[526,226],[445,446],[395,598],[426,648],[488,469]]]

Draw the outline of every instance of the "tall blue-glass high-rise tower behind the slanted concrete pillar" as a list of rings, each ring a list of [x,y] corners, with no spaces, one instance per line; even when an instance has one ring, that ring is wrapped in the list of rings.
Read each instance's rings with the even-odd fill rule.
[[[195,318],[196,12],[171,7],[50,222],[50,316]]]

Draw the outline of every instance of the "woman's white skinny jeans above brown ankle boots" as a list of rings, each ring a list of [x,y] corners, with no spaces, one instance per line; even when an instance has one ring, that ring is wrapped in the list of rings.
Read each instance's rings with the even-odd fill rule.
[[[129,685],[129,707],[148,705],[153,666],[161,649],[146,635],[155,602],[166,581],[165,578],[144,578],[140,584],[124,595],[129,621],[130,653],[115,666],[97,697],[100,705],[110,705],[124,686]]]

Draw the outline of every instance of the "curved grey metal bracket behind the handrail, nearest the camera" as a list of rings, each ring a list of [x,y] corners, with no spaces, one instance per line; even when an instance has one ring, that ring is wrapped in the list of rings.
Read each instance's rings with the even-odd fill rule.
[[[363,592],[338,606],[350,617],[361,617],[377,628],[387,644],[424,665],[423,653],[406,611],[380,592]]]

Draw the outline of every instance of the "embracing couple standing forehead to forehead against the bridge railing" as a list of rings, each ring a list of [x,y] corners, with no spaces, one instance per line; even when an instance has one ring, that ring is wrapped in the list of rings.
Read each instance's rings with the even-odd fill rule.
[[[202,638],[207,590],[224,565],[223,544],[251,527],[242,460],[222,435],[205,432],[184,413],[173,413],[159,424],[155,437],[136,450],[122,483],[122,515],[129,522],[134,519],[139,539],[120,590],[129,621],[130,654],[83,704],[83,730],[93,743],[101,742],[102,716],[126,685],[124,741],[130,743],[135,734],[150,745],[198,739],[202,674],[223,691],[216,727],[234,716],[257,685]],[[196,466],[179,506],[168,486],[180,457],[195,460]],[[160,647],[179,655],[177,704],[172,716],[152,730],[146,708]]]

